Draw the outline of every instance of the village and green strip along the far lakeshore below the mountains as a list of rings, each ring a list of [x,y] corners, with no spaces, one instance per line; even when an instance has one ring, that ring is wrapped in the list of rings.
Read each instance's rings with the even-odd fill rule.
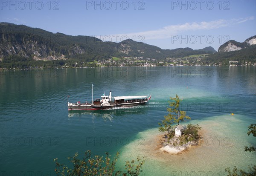
[[[251,61],[224,61],[224,62],[207,62],[205,55],[191,55],[183,58],[166,58],[162,61],[143,58],[143,57],[112,57],[108,60],[99,60],[92,62],[76,61],[74,59],[60,60],[37,60],[32,63],[12,63],[11,65],[1,65],[0,70],[29,70],[29,69],[64,69],[64,68],[104,68],[104,67],[172,67],[172,66],[256,66],[256,62]]]

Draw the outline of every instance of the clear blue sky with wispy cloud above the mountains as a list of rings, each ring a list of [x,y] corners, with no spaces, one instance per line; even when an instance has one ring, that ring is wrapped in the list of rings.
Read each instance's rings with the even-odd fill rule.
[[[0,0],[0,22],[162,49],[218,47],[256,35],[255,0]]]

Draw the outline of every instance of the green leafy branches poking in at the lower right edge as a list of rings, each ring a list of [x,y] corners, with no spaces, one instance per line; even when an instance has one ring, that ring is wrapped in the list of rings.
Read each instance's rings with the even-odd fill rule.
[[[256,137],[256,124],[250,124],[248,127],[248,136],[250,134],[253,134],[254,137]],[[244,147],[244,151],[247,152],[255,152],[255,147]],[[230,167],[227,167],[225,171],[227,171],[227,176],[256,176],[256,165],[253,167],[248,166],[249,170],[244,171],[244,170],[239,170],[236,166],[233,168],[233,170],[230,170]]]

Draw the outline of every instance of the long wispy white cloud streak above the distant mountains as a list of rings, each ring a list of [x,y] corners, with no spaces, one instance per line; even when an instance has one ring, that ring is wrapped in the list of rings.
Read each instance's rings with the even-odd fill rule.
[[[220,20],[209,21],[209,22],[202,21],[202,22],[169,25],[169,26],[164,26],[161,29],[143,31],[143,32],[134,32],[134,33],[128,33],[128,34],[119,34],[119,36],[127,35],[129,38],[132,38],[134,35],[136,36],[143,35],[144,38],[146,38],[147,40],[165,39],[165,38],[172,38],[172,35],[177,35],[181,32],[218,29],[226,26],[232,26],[239,23],[244,23],[248,20],[254,20],[254,17],[236,18],[231,20],[220,19]]]

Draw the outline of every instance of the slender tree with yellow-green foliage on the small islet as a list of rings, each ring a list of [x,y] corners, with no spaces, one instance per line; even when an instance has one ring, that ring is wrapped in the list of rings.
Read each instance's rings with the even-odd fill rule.
[[[170,97],[171,100],[174,100],[174,102],[170,102],[170,107],[167,108],[167,111],[169,112],[168,115],[164,116],[164,120],[162,120],[162,123],[158,123],[160,125],[159,131],[167,131],[169,135],[174,134],[174,126],[172,124],[177,123],[178,125],[181,125],[182,122],[185,121],[184,119],[191,119],[189,116],[186,115],[186,111],[181,111],[179,109],[180,107],[180,100],[179,96],[176,94],[175,98]]]

